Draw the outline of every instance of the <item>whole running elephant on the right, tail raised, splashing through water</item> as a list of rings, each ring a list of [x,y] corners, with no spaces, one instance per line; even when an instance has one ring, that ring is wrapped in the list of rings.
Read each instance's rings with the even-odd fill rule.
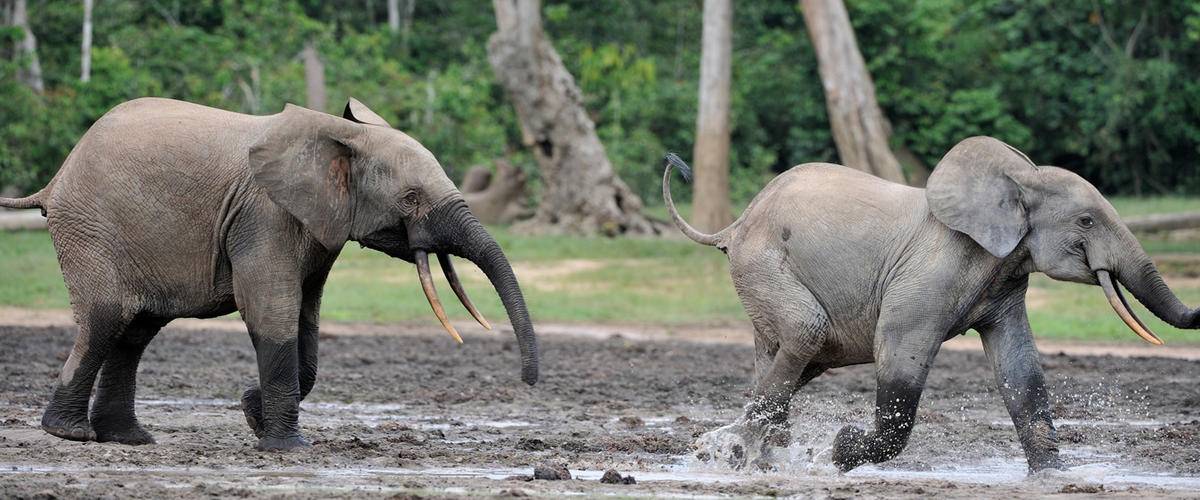
[[[679,162],[682,164],[682,162]],[[1200,327],[1117,212],[1078,175],[1034,167],[996,139],[959,143],[928,189],[814,163],[775,177],[728,228],[692,240],[728,254],[755,327],[756,384],[745,415],[701,439],[734,466],[787,442],[793,393],[829,368],[875,362],[875,428],[838,433],[844,471],[895,457],[912,430],[942,342],[980,333],[1031,471],[1061,468],[1025,293],[1031,272],[1097,284],[1108,271],[1150,311]],[[767,457],[768,452],[762,452]],[[760,466],[769,466],[757,463]]]

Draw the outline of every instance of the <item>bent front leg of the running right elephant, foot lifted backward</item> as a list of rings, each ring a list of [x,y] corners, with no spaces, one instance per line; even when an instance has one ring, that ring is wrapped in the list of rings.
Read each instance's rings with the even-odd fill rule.
[[[887,462],[900,454],[917,417],[917,405],[925,378],[944,338],[938,326],[920,326],[923,318],[943,314],[913,314],[888,307],[876,325],[875,363],[878,386],[875,392],[875,429],[864,432],[842,427],[833,445],[833,463],[842,472],[865,463]]]

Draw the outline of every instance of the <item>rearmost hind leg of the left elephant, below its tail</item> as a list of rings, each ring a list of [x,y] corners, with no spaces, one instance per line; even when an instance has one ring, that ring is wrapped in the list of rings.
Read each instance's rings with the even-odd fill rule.
[[[76,319],[79,335],[62,366],[50,404],[42,414],[42,429],[62,439],[94,441],[96,432],[88,420],[88,400],[96,373],[127,320],[114,303],[80,305]]]

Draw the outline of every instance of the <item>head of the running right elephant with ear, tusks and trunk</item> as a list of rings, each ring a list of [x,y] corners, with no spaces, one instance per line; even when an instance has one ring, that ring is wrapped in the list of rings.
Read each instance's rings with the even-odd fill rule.
[[[1200,311],[1166,287],[1112,205],[1069,170],[1038,167],[1008,144],[972,137],[938,162],[925,197],[934,217],[992,255],[1004,258],[1021,246],[1033,269],[1051,278],[1099,284],[1117,315],[1147,342],[1162,344],[1118,283],[1163,321],[1200,327]]]

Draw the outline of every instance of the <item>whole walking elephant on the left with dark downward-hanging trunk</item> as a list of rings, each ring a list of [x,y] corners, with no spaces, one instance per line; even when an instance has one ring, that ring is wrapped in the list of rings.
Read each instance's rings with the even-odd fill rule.
[[[358,101],[343,118],[130,101],[96,121],[44,189],[0,206],[42,207],[79,324],[42,417],[59,438],[154,442],[133,412],[142,351],[172,319],[239,311],[258,354],[259,386],[242,398],[258,447],[308,446],[299,403],[317,376],[322,288],[348,240],[408,261],[424,251],[476,264],[508,309],[522,379],[538,379],[499,246],[433,155]]]

